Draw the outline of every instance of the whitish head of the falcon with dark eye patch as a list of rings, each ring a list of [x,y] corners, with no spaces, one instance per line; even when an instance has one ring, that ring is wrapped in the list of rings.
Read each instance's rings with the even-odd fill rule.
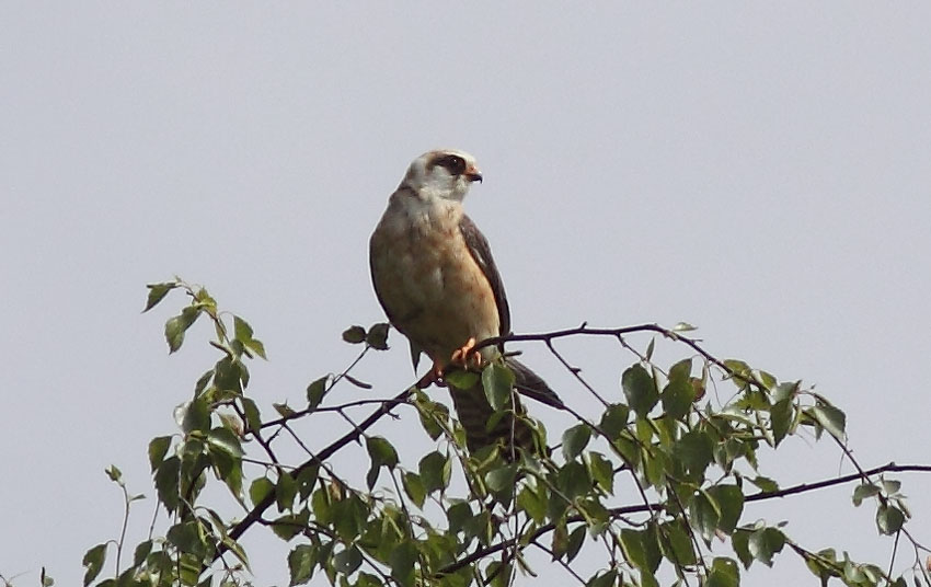
[[[472,182],[481,181],[482,172],[474,157],[455,149],[439,149],[416,158],[402,185],[413,189],[421,198],[462,202]]]

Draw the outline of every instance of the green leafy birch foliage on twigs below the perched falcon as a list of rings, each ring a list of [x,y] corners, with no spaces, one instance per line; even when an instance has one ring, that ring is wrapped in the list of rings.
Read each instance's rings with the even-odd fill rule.
[[[694,330],[687,323],[673,330],[583,326],[540,335],[537,339],[551,349],[564,336],[610,336],[634,352],[634,362],[621,377],[624,402],[602,401],[604,410],[590,416],[567,408],[576,422],[559,435],[560,450],[521,451],[515,459],[503,447],[470,454],[446,405],[415,387],[391,399],[336,402],[342,383],[370,388],[349,370],[370,349],[388,348],[387,324],[347,329],[343,339],[361,347],[356,361],[338,375],[312,381],[306,405],[275,404],[274,415],[263,415],[246,392],[246,361],[266,357],[252,326],[237,315],[228,324],[204,288],[181,280],[150,285],[146,311],[175,290],[186,294],[189,303],[165,324],[169,350],[177,352],[191,326],[206,316],[216,335],[209,344],[220,356],[179,408],[181,431],[149,444],[156,495],[169,516],[164,531],[136,545],[125,568],[124,536],[90,549],[83,560],[84,585],[101,576],[111,550],[116,551],[114,571],[96,585],[245,585],[250,567],[240,539],[263,528],[290,544],[281,563],[291,585],[321,576],[334,585],[360,587],[508,585],[518,574],[538,572],[527,559],[533,550],[595,587],[737,586],[742,572],[755,564],[772,566],[785,552],[801,556],[821,582],[905,585],[904,577],[893,578],[846,554],[839,557],[832,548],[808,550],[783,523],[745,519],[750,500],[809,491],[781,488],[760,465],[763,449],[775,450],[800,434],[836,442],[858,473],[827,484],[857,481],[853,505],[875,502],[877,531],[920,550],[906,531],[910,514],[899,483],[852,460],[840,408],[798,381],[780,382],[744,361],[708,354],[682,336]],[[635,333],[662,335],[690,357],[663,369],[652,358],[656,339],[639,353],[624,338]],[[577,370],[571,372],[588,388]],[[510,410],[514,375],[503,362],[451,377],[471,378],[457,380],[460,387],[481,377],[489,402]],[[728,400],[711,401],[708,389]],[[368,417],[349,416],[350,410],[364,406],[372,410]],[[391,439],[368,433],[378,419],[401,410],[414,411],[417,418],[409,421],[425,431],[424,452],[412,462],[400,457]],[[279,460],[280,438],[299,439],[294,422],[333,412],[352,423],[345,435],[308,449],[304,462]],[[516,416],[545,441],[539,422]],[[368,458],[367,469],[359,463],[360,471],[367,470],[361,487],[332,467],[356,440]],[[128,516],[129,504],[141,496],[129,496],[116,468],[107,474],[123,487]],[[211,507],[203,497],[208,484],[225,486],[248,513],[229,517]],[[727,552],[713,553],[715,543]],[[600,552],[604,564],[586,578],[574,565],[587,549]],[[911,574],[916,583],[931,584],[917,559]]]

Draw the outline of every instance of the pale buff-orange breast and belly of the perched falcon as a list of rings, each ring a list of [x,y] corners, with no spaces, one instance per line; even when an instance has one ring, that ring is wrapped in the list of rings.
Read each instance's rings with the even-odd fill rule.
[[[458,203],[415,214],[389,206],[370,242],[372,280],[392,323],[440,365],[470,337],[497,336],[501,326],[461,218]]]

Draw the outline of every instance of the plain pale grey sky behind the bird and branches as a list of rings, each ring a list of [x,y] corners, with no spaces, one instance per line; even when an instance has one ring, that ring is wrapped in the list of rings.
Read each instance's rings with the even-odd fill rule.
[[[111,463],[149,495],[129,541],[145,536],[148,441],[176,431],[217,358],[205,324],[168,356],[184,301],[140,314],[147,283],[206,285],[265,342],[251,393],[300,405],[358,350],[340,333],[383,320],[369,233],[411,160],[444,146],[484,173],[467,208],[516,332],[687,321],[717,356],[816,384],[864,467],[928,463],[929,22],[927,2],[0,2],[0,574],[78,585],[84,551],[119,531]],[[375,389],[342,398],[413,380],[390,342],[354,371]],[[632,356],[561,348],[620,398]],[[378,434],[425,452],[401,416]],[[785,485],[850,472],[812,439],[761,464]],[[899,479],[931,542],[931,480]],[[885,563],[852,488],[744,521]],[[286,584],[287,548],[250,540],[256,585]],[[911,560],[903,546],[897,567]],[[777,563],[751,580],[816,580]]]

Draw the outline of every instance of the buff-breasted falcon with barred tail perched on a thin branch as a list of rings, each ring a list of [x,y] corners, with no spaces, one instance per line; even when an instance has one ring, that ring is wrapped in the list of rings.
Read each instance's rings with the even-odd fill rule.
[[[465,216],[462,199],[482,174],[472,156],[456,150],[429,151],[411,163],[388,200],[369,242],[371,279],[391,324],[411,343],[416,368],[421,352],[441,372],[469,359],[476,341],[510,332],[510,311],[489,242]],[[484,347],[482,360],[501,349]],[[555,407],[562,401],[537,373],[508,357],[518,392]],[[512,438],[530,448],[528,426],[510,417],[489,430],[493,414],[481,381],[472,389],[449,385],[469,449]],[[516,410],[521,408],[518,403]]]

